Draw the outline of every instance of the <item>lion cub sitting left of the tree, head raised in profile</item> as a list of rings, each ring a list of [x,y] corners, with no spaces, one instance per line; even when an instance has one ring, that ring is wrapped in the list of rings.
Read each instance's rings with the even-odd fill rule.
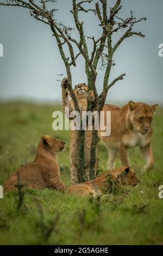
[[[63,151],[65,142],[44,135],[37,147],[37,154],[33,162],[27,163],[12,174],[4,184],[4,192],[15,190],[17,173],[20,181],[28,187],[49,187],[64,191],[66,186],[60,180],[57,152]]]

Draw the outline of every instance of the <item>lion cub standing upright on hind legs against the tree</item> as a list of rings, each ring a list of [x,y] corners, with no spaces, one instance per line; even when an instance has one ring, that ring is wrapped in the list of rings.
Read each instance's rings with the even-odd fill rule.
[[[62,88],[62,102],[63,107],[69,107],[69,112],[75,111],[74,103],[68,92],[68,79],[65,77],[61,82]],[[74,88],[74,94],[77,97],[80,111],[87,110],[87,98],[91,102],[95,102],[93,92],[87,93],[87,86],[85,83],[79,83]],[[90,180],[90,149],[92,142],[92,131],[85,131],[84,141],[84,173],[87,180]],[[74,130],[70,132],[70,160],[71,160],[71,182],[72,184],[78,184],[77,167],[78,167],[78,131]],[[97,168],[96,160],[96,168]]]

